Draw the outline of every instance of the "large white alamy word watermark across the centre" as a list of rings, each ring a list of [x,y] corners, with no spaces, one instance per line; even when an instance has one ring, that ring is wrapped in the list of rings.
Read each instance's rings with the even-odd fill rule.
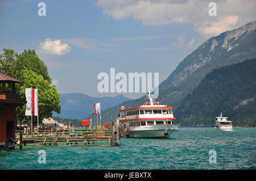
[[[100,93],[103,92],[117,92],[117,93],[146,93],[148,90],[154,91],[153,99],[158,98],[159,95],[159,73],[128,73],[128,76],[119,72],[115,74],[115,68],[110,68],[110,76],[108,73],[101,72],[98,74],[97,79],[101,80],[98,83],[97,90]],[[152,82],[154,79],[154,87]],[[118,82],[115,82],[118,80]]]

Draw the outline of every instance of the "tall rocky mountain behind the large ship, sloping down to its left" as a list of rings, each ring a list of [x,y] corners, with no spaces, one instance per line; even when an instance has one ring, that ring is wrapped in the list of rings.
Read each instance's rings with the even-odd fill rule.
[[[181,100],[195,90],[205,75],[213,69],[255,58],[255,28],[256,21],[205,41],[184,58],[165,81],[160,83],[159,97],[156,100],[173,106],[175,111]],[[102,111],[103,121],[109,122],[110,119],[117,117],[120,106],[130,108],[142,105],[143,98],[125,101]]]

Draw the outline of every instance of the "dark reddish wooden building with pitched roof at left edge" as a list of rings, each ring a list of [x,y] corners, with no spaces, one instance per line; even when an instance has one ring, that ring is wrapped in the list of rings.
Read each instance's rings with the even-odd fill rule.
[[[0,73],[0,147],[14,148],[16,131],[16,107],[26,104],[17,100],[15,83],[18,79]]]

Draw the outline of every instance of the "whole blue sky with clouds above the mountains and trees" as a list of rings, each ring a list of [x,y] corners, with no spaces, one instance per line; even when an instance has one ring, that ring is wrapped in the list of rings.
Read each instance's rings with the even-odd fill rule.
[[[0,53],[35,49],[57,91],[113,96],[97,91],[99,73],[156,72],[160,83],[210,37],[255,20],[255,1],[214,1],[217,16],[209,2],[0,0]]]

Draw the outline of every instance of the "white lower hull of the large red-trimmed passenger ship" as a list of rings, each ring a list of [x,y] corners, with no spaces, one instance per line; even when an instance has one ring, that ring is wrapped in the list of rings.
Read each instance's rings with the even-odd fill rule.
[[[151,125],[144,127],[131,127],[131,138],[169,138],[170,135],[178,131],[177,126],[171,124]]]

